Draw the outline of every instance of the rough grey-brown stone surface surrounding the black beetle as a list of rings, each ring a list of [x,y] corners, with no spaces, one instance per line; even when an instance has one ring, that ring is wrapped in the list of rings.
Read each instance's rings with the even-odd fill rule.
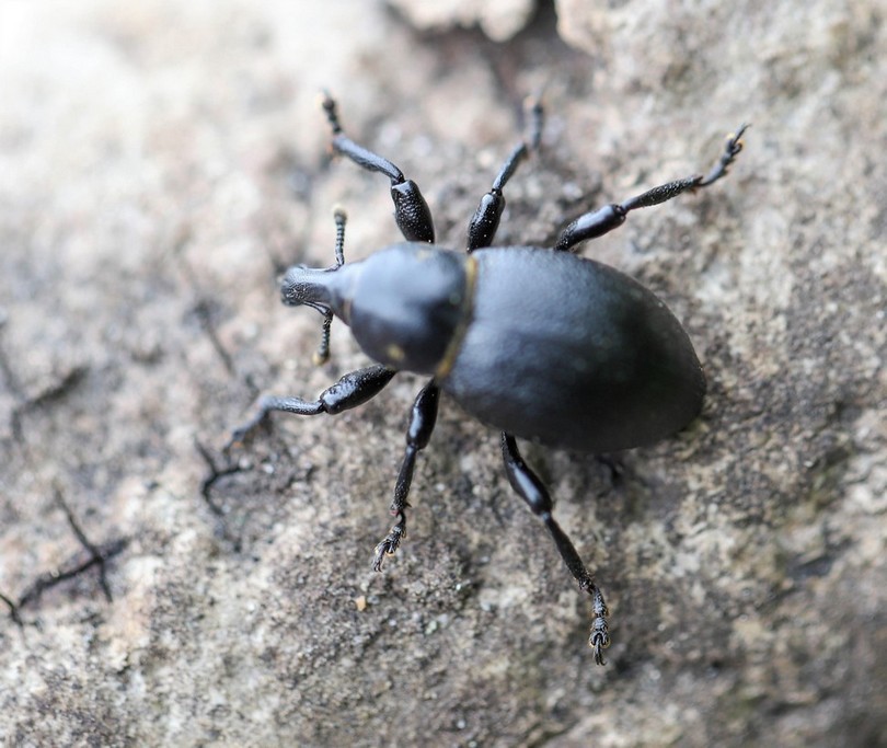
[[[594,5],[597,10],[590,8]],[[883,4],[557,5],[507,45],[365,0],[0,7],[0,743],[887,743]],[[686,321],[702,418],[618,457],[528,448],[612,611],[609,665],[494,434],[445,402],[410,537],[369,569],[419,382],[280,417],[361,366],[289,262],[396,238],[315,96],[458,244],[545,88],[499,242],[707,168],[586,248]],[[529,292],[529,291],[528,291]],[[206,457],[205,457],[206,456]],[[99,563],[104,560],[104,566]],[[107,594],[106,594],[107,592]]]

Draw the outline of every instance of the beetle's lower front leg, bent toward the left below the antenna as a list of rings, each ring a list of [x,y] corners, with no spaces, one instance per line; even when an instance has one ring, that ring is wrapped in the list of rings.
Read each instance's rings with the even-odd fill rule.
[[[272,411],[285,411],[296,415],[319,415],[329,413],[335,415],[352,407],[362,405],[379,394],[396,373],[393,369],[379,364],[366,369],[352,371],[342,377],[335,384],[321,392],[314,401],[301,398],[279,398],[276,395],[262,395],[256,403],[253,416],[242,426],[231,431],[231,438],[224,447],[228,451],[232,446],[241,444],[256,426],[258,426]]]

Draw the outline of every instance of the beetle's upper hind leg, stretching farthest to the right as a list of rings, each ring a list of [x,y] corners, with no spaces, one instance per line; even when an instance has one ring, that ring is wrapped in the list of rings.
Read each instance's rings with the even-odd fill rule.
[[[705,176],[696,174],[695,176],[688,176],[683,180],[667,182],[645,193],[630,197],[624,203],[606,205],[602,208],[579,216],[561,232],[554,249],[572,251],[576,244],[586,239],[597,239],[613,229],[618,229],[625,222],[625,218],[631,210],[649,208],[650,206],[666,203],[681,193],[699,187],[707,187],[710,184],[716,182],[727,173],[727,169],[736,160],[739,151],[742,150],[741,137],[747,128],[748,125],[740,125],[736,133],[727,138],[721,159]]]

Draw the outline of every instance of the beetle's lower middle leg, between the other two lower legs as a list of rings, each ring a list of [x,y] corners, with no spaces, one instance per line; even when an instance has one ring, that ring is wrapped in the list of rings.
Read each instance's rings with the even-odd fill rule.
[[[416,454],[428,446],[431,431],[437,422],[437,403],[440,390],[435,380],[429,381],[413,403],[410,412],[410,426],[406,428],[406,451],[403,456],[398,482],[394,485],[394,499],[391,502],[391,514],[398,521],[385,536],[384,540],[376,546],[376,557],[372,568],[382,571],[382,561],[387,555],[393,555],[401,544],[401,538],[406,534],[406,509],[410,506],[410,486],[413,483],[413,470],[416,465]]]

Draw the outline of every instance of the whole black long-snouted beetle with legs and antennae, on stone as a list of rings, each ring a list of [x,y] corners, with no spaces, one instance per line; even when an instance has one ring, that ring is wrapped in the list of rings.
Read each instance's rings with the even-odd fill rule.
[[[439,392],[502,431],[512,488],[545,523],[571,574],[591,596],[589,644],[603,664],[610,644],[603,596],[576,549],[552,517],[552,498],[523,462],[515,437],[551,447],[607,452],[653,444],[692,421],[702,407],[705,377],[690,338],[656,296],[622,273],[572,254],[576,245],[625,221],[631,210],[706,187],[727,173],[742,149],[742,125],[707,175],[654,187],[580,216],[552,249],[489,248],[505,207],[503,188],[539,147],[542,107],[531,108],[531,135],[506,159],[468,229],[468,252],[436,245],[434,223],[418,186],[391,161],[347,138],[335,102],[323,101],[333,149],[391,180],[394,218],[405,242],[345,264],[345,215],[336,211],[336,264],[297,266],[283,280],[283,301],[324,315],[315,359],[329,356],[330,325],[338,317],[362,350],[378,361],[342,377],[314,401],[265,395],[255,415],[232,433],[241,441],[270,411],[336,414],[377,395],[398,371],[431,377],[416,396],[406,452],[394,487],[398,518],[376,548],[373,568],[406,533],[407,496],[416,454],[431,436]]]

